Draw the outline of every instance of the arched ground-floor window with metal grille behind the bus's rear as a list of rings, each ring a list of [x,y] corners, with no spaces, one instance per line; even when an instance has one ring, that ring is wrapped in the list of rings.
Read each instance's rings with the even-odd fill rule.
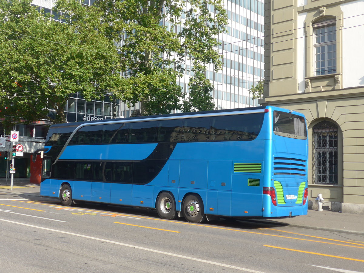
[[[337,126],[323,121],[313,127],[313,183],[338,185]]]

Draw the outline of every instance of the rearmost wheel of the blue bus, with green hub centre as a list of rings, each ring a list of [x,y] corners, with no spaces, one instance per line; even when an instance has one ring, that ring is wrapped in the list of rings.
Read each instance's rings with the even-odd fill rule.
[[[187,221],[191,223],[202,223],[206,220],[203,212],[203,202],[198,195],[187,195],[183,200],[182,213]]]

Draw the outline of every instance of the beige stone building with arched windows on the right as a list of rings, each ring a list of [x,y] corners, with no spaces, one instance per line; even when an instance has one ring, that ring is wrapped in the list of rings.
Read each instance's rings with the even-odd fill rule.
[[[305,114],[309,198],[364,213],[364,1],[265,1],[262,105]],[[292,147],[294,149],[294,147]]]

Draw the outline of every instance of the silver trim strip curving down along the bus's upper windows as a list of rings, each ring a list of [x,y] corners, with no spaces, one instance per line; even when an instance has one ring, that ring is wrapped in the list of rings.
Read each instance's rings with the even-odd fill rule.
[[[66,143],[62,147],[62,150],[58,154],[58,157],[53,162],[53,165],[58,161],[60,156],[63,154],[66,149],[68,143],[70,143],[72,137],[76,134],[76,132],[85,126],[96,125],[96,124],[117,124],[117,123],[129,123],[129,122],[142,122],[142,121],[156,121],[156,120],[169,120],[169,119],[185,119],[185,118],[203,118],[209,116],[226,116],[226,115],[241,115],[241,114],[257,114],[264,113],[265,109],[256,109],[256,110],[245,110],[245,111],[232,111],[232,112],[218,112],[218,113],[207,113],[207,114],[195,114],[195,115],[181,115],[181,116],[171,116],[171,117],[156,117],[156,118],[142,118],[142,119],[129,119],[129,120],[117,120],[117,121],[106,121],[106,122],[90,122],[90,123],[82,123],[75,128],[70,137],[68,137]]]

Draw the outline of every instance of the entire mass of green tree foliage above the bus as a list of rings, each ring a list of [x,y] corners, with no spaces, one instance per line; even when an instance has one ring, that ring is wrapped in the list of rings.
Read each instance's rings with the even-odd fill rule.
[[[105,0],[91,7],[58,0],[56,20],[31,0],[0,0],[0,10],[5,126],[65,122],[66,102],[76,92],[86,100],[112,94],[128,105],[141,101],[143,115],[214,108],[205,72],[207,64],[221,67],[215,36],[227,21],[222,0]],[[185,72],[189,96],[177,82]]]

